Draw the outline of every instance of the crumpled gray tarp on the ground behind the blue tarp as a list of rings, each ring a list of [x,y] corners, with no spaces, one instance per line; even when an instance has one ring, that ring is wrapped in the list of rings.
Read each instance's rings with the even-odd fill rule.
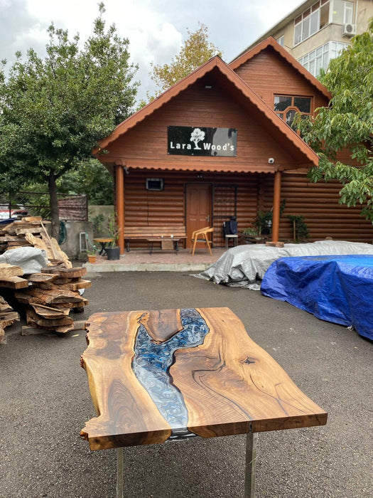
[[[237,245],[228,249],[212,266],[194,275],[217,284],[260,290],[260,282],[271,264],[286,256],[372,254],[373,245],[345,240],[320,240],[307,244],[285,244],[283,248],[264,244]]]

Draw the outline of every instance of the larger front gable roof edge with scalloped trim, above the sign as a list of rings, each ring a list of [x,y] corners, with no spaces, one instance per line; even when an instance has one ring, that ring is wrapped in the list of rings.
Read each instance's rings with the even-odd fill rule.
[[[318,155],[313,152],[313,149],[308,147],[306,142],[303,142],[303,139],[301,139],[286,122],[281,120],[281,118],[276,115],[276,112],[268,107],[266,103],[261,100],[259,95],[249,88],[247,83],[245,83],[244,80],[242,80],[242,78],[240,78],[239,75],[237,75],[237,73],[235,73],[234,70],[217,55],[210,60],[207,60],[205,64],[202,64],[198,69],[194,70],[193,73],[190,73],[190,75],[183,78],[183,80],[180,80],[171,88],[168,88],[168,90],[149,102],[141,110],[135,112],[126,120],[118,124],[109,136],[99,141],[99,147],[94,149],[93,154],[96,157],[99,156],[102,149],[106,149],[114,140],[128,132],[129,129],[134,128],[136,124],[144,121],[146,117],[152,115],[156,110],[170,102],[176,95],[179,95],[180,92],[183,92],[183,90],[190,87],[190,85],[193,85],[193,83],[200,80],[200,78],[203,78],[208,73],[212,73],[212,71],[218,71],[222,78],[225,78],[227,83],[230,84],[230,88],[234,88],[248,104],[254,106],[256,110],[260,112],[261,119],[266,122],[266,125],[268,125],[277,136],[292,142],[293,146],[296,147],[298,152],[301,152],[301,154],[306,157],[307,161],[315,166],[318,165]]]

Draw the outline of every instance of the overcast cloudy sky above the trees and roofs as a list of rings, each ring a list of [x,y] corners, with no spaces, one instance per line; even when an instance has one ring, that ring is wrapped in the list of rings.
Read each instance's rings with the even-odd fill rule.
[[[152,90],[150,63],[171,61],[188,37],[186,29],[204,23],[210,41],[230,62],[256,38],[301,4],[301,0],[106,0],[104,19],[129,38],[131,60],[139,65],[139,97]],[[0,0],[0,59],[32,47],[44,55],[46,29],[53,21],[85,41],[98,15],[97,0]]]

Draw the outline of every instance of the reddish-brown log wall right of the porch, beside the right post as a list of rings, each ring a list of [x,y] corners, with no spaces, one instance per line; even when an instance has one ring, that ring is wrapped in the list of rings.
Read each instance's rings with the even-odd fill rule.
[[[264,183],[264,210],[271,209],[273,176],[266,175]],[[280,221],[280,240],[291,240],[292,227],[287,215],[305,217],[310,231],[309,241],[331,237],[335,240],[372,243],[373,227],[360,216],[361,208],[347,208],[338,203],[341,184],[338,181],[310,183],[306,174],[283,174],[281,201],[286,208]]]

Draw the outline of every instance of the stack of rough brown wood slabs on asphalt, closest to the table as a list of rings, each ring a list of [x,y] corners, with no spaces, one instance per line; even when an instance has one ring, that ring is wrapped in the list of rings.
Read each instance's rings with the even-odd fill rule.
[[[86,273],[85,267],[55,266],[28,275],[28,289],[16,292],[18,302],[26,304],[28,326],[60,333],[74,330],[70,310],[88,304],[79,292],[92,285],[82,280]]]

